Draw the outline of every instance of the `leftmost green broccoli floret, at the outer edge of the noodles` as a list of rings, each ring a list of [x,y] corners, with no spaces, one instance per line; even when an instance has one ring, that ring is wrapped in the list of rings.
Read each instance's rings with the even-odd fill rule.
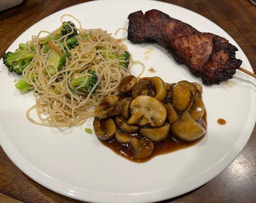
[[[28,52],[24,54],[21,49],[18,49],[14,53],[10,51],[4,53],[3,61],[10,72],[15,72],[21,75],[23,69],[30,64],[34,56],[35,53],[33,52]]]

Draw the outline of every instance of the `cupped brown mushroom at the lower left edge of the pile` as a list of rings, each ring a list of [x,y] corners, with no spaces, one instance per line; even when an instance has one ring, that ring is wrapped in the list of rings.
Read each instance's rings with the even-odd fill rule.
[[[101,140],[111,139],[116,132],[116,124],[112,118],[100,120],[98,117],[94,117],[93,128],[96,136]]]

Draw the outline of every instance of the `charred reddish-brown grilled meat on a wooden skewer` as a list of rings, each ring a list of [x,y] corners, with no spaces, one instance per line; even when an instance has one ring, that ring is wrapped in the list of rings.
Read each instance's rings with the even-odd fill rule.
[[[137,11],[128,19],[128,40],[164,45],[177,62],[186,64],[192,74],[201,77],[203,84],[219,84],[233,78],[242,63],[236,59],[238,49],[226,39],[199,32],[161,11],[150,10],[144,15]]]

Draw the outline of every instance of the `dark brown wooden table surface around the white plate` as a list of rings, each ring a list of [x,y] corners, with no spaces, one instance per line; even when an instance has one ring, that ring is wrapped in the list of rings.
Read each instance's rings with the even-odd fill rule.
[[[28,0],[0,12],[0,56],[31,25],[66,7],[87,1]],[[256,73],[256,7],[248,0],[165,0],[212,20],[245,52]],[[254,23],[254,24],[253,24]],[[207,31],[207,30],[204,30]],[[200,188],[162,201],[256,202],[256,126],[240,155],[221,174]],[[23,174],[0,147],[0,192],[24,202],[81,202],[52,192]],[[1,201],[1,200],[0,200]]]

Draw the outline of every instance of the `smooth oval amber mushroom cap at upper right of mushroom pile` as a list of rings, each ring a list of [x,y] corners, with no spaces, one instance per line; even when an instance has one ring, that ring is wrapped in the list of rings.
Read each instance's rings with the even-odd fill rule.
[[[191,103],[191,92],[183,84],[176,84],[171,91],[171,100],[174,108],[178,111],[184,111]]]

